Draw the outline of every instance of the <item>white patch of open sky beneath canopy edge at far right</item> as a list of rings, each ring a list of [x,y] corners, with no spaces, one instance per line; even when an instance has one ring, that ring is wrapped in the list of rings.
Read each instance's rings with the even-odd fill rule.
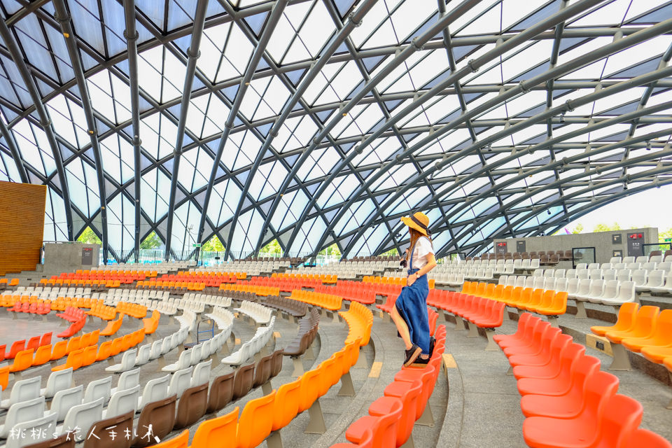
[[[622,229],[634,226],[638,228],[657,227],[659,231],[667,230],[672,228],[671,197],[672,186],[646,190],[591,211],[569,223],[566,228],[572,230],[578,223],[581,223],[584,228],[583,232],[592,232],[598,224],[618,223]]]

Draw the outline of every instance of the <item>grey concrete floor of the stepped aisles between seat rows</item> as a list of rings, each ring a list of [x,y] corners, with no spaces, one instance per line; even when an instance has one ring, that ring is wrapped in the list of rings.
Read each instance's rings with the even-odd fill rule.
[[[403,346],[401,340],[396,337],[396,331],[391,322],[384,321],[379,316],[379,311],[370,307],[374,312],[374,325],[372,328],[371,343],[363,347],[361,354],[365,358],[363,365],[351,369],[353,385],[356,391],[354,397],[338,396],[340,384],[332,386],[328,393],[320,398],[326,431],[323,434],[306,434],[309,416],[303,412],[297,416],[288,426],[279,431],[281,440],[286,447],[329,447],[335,442],[345,442],[345,431],[348,426],[360,416],[367,414],[367,408],[371,402],[383,395],[387,384],[393,381],[394,374],[400,369]],[[48,316],[47,322],[41,320],[29,321],[27,316],[12,319],[6,311],[0,311],[0,340],[10,344],[13,339],[27,337],[27,333],[34,335],[45,331],[58,330],[60,319],[53,314]],[[519,402],[520,395],[517,392],[514,377],[506,375],[507,360],[501,351],[484,351],[486,339],[483,336],[466,337],[465,331],[454,330],[454,323],[444,322],[439,318],[440,325],[447,326],[446,351],[454,360],[454,367],[444,368],[439,375],[435,391],[430,398],[430,407],[433,412],[433,426],[416,425],[413,431],[415,447],[524,447],[521,433],[524,416],[521,414]],[[575,342],[584,343],[585,334],[589,332],[589,326],[596,323],[605,324],[595,319],[580,320],[572,315],[561,316],[559,321],[566,332],[575,337]],[[516,330],[516,321],[505,321],[498,328],[498,333],[510,334]],[[95,320],[87,323],[85,331],[104,328],[104,323]],[[155,338],[164,337],[176,331],[178,325],[171,323],[167,318],[162,318]],[[122,328],[120,334],[130,332],[135,328]],[[286,346],[296,334],[297,324],[286,319],[276,320],[276,334],[278,337],[267,346],[267,351],[276,347]],[[234,323],[233,334],[240,342],[251,338],[255,328],[250,323],[237,319]],[[347,328],[343,322],[332,322],[327,316],[323,316],[320,322],[318,338],[314,343],[315,360],[304,360],[304,369],[309,370],[318,365],[322,360],[331,356],[334,351],[342,348],[347,335]],[[2,344],[6,342],[0,342]],[[174,349],[167,355],[167,363],[172,363],[179,357],[180,348]],[[594,349],[587,349],[587,353],[600,358],[605,365],[610,363],[610,356]],[[211,379],[228,372],[230,367],[221,365],[220,358],[225,356],[219,353],[214,358]],[[116,362],[119,362],[120,356]],[[381,363],[379,374],[372,374],[373,363]],[[95,363],[84,367],[74,373],[76,384],[87,384],[92,379],[107,376],[104,368],[108,363]],[[278,377],[271,380],[272,388],[278,388],[281,384],[293,381],[290,377],[293,365],[290,358],[283,358],[283,369]],[[43,386],[50,373],[50,366],[45,365],[28,370],[24,378],[41,375]],[[661,381],[654,379],[641,370],[631,372],[615,372],[621,380],[620,393],[624,393],[642,402],[644,407],[644,419],[642,426],[654,430],[672,440],[671,410],[665,409],[665,405],[672,397],[672,388]],[[158,361],[154,360],[141,367],[141,386],[146,381],[163,376],[158,371]],[[118,376],[116,377],[118,378]],[[113,386],[116,386],[113,379]],[[230,403],[218,416],[228,414],[235,407],[242,409],[248,400],[259,398],[262,395],[261,388],[257,388],[246,397]],[[3,393],[3,398],[8,398],[8,392]],[[209,414],[204,419],[213,418]],[[0,413],[0,424],[4,421],[4,414]],[[200,422],[199,422],[200,423]],[[198,424],[190,428],[190,436],[193,437]],[[169,437],[177,435],[174,431]],[[263,442],[260,446],[265,446]]]

